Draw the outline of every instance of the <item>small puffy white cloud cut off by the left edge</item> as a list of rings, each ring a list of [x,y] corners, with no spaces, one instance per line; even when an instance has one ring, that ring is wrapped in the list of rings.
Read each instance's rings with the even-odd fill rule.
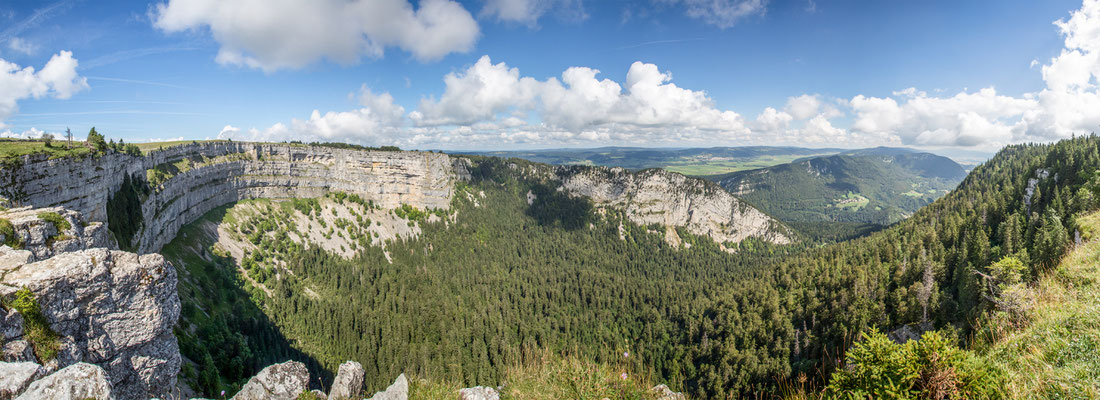
[[[19,110],[23,99],[53,97],[68,99],[88,88],[88,79],[76,73],[77,60],[72,52],[61,52],[46,62],[41,70],[20,67],[0,58],[0,126]]]

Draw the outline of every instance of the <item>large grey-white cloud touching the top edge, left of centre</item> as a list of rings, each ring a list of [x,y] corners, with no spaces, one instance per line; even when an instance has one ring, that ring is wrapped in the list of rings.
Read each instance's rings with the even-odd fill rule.
[[[398,47],[420,60],[473,48],[477,22],[462,4],[424,0],[169,0],[152,11],[165,32],[209,29],[217,60],[271,71],[321,58],[354,64]]]

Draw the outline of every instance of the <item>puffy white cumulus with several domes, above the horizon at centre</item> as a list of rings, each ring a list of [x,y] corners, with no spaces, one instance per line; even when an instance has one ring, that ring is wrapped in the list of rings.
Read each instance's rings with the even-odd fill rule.
[[[410,118],[421,126],[473,124],[534,113],[551,130],[593,132],[603,127],[635,131],[745,130],[740,115],[718,110],[703,91],[672,84],[653,64],[635,62],[623,85],[600,79],[600,70],[571,67],[561,80],[522,77],[517,68],[483,56],[463,71],[449,74],[443,95],[420,101]]]

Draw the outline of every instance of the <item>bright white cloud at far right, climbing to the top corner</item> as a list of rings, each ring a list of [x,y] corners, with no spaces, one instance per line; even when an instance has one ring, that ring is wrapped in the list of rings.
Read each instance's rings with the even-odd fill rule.
[[[1065,47],[1042,66],[1043,90],[1009,97],[986,88],[928,97],[909,88],[894,98],[856,96],[851,130],[892,135],[905,144],[986,148],[1094,132],[1100,125],[1100,0],[1085,0],[1055,25]]]

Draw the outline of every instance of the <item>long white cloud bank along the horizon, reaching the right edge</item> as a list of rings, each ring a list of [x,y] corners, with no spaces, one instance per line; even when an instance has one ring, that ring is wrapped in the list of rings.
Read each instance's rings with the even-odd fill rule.
[[[1056,25],[1065,48],[1041,68],[1046,88],[1022,96],[992,87],[954,95],[911,87],[847,100],[801,95],[746,120],[716,107],[705,91],[676,86],[652,64],[634,63],[622,81],[582,66],[537,79],[483,56],[448,74],[442,93],[422,98],[407,114],[388,95],[364,88],[359,110],[315,111],[308,120],[248,134],[444,148],[697,143],[988,151],[1088,133],[1100,124],[1100,0],[1086,0]],[[837,125],[834,120],[842,116]],[[222,134],[241,130],[227,126]]]

